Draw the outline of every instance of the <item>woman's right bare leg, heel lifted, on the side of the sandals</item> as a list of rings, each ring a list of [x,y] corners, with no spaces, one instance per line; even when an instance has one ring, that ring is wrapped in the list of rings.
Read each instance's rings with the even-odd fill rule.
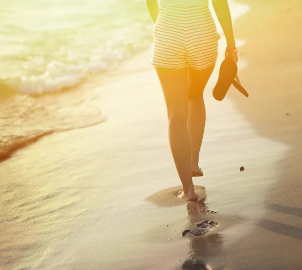
[[[213,72],[214,66],[215,65],[211,65],[210,67],[201,70],[188,67],[188,133],[191,143],[191,169],[196,176],[203,175],[198,166],[199,151],[205,126],[203,91]]]

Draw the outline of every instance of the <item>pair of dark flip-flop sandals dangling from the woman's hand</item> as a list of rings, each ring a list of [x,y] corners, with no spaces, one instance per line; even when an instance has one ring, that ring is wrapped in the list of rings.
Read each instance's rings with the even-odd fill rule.
[[[218,80],[213,89],[215,100],[222,101],[232,84],[245,97],[249,97],[248,92],[241,85],[237,72],[237,63],[231,57],[225,57],[221,63]]]

